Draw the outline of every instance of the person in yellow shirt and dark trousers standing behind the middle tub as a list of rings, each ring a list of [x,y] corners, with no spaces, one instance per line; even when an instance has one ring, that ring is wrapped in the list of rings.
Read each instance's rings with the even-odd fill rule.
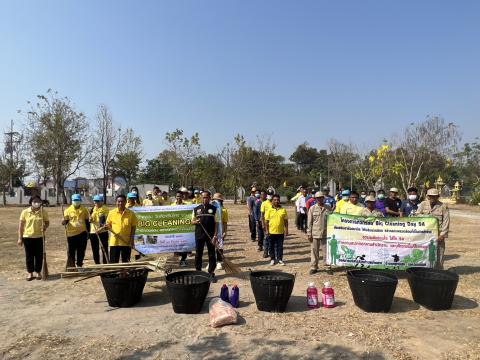
[[[270,237],[270,265],[275,263],[285,266],[283,262],[283,241],[288,236],[288,215],[280,205],[280,195],[272,198],[272,207],[265,213],[267,236]]]

